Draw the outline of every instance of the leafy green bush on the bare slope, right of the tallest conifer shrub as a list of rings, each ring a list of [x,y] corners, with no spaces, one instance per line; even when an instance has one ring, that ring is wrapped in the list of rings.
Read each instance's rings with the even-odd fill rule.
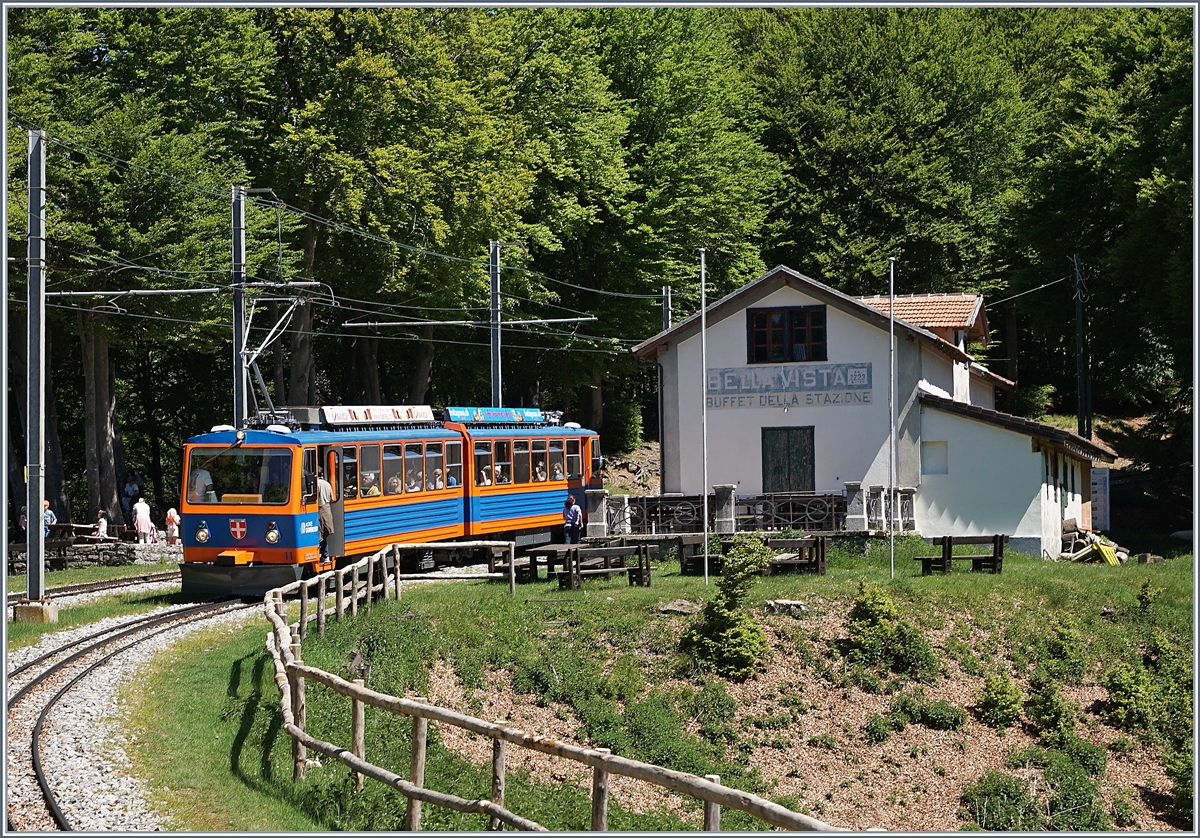
[[[895,603],[878,587],[859,582],[850,611],[852,664],[882,666],[917,681],[932,682],[941,669],[929,641],[912,623],[900,617]]]

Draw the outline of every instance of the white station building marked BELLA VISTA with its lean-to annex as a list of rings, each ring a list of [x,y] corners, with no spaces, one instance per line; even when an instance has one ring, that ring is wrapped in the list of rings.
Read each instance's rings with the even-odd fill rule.
[[[898,522],[926,538],[1004,533],[1057,556],[1091,522],[1090,472],[1114,454],[996,411],[1013,385],[968,352],[988,340],[978,294],[895,298]],[[882,529],[889,474],[888,298],[850,297],[778,267],[634,347],[659,366],[661,486],[701,493],[845,493],[847,529]],[[702,382],[707,381],[707,395]]]

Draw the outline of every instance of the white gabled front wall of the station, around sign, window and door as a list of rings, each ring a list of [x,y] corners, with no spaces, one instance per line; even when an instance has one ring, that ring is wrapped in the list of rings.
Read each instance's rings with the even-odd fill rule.
[[[823,305],[823,300],[809,297],[796,288],[779,288],[750,305],[754,309],[798,305]],[[888,334],[833,305],[826,309],[827,354],[826,361],[790,364],[788,367],[814,367],[822,364],[871,365],[870,403],[845,403],[823,406],[738,407],[708,409],[708,485],[737,484],[739,495],[762,491],[762,427],[814,426],[815,491],[841,492],[847,480],[886,485],[888,479]],[[900,485],[905,478],[916,481],[917,463],[914,451],[919,429],[917,407],[904,413],[904,406],[914,391],[919,375],[919,347],[916,342],[896,335],[896,399],[901,405],[900,426],[907,429],[911,438],[905,445],[901,460]],[[698,493],[703,485],[701,459],[701,375],[700,335],[696,334],[678,345],[671,357],[678,364],[674,393],[664,391],[664,399],[674,396],[678,401],[678,418],[671,425],[679,433],[678,484],[664,481],[664,491]],[[710,321],[708,327],[708,367],[728,369],[746,366],[770,366],[746,364],[746,315],[738,311],[724,319]],[[906,375],[906,371],[910,371]],[[757,401],[752,402],[757,405]],[[667,408],[665,408],[667,409]],[[667,430],[670,433],[670,429]],[[667,472],[673,471],[671,466]]]

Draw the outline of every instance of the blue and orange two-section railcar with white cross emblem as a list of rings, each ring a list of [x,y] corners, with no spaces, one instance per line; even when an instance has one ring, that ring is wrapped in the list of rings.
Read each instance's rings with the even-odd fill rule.
[[[532,408],[293,407],[218,425],[184,448],[184,592],[260,594],[395,541],[544,544],[602,465],[595,431]]]

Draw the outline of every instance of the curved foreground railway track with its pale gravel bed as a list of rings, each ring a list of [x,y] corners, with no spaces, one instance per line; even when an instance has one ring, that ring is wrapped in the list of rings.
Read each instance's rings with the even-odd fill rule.
[[[112,702],[103,707],[90,707],[77,712],[68,702],[86,701],[88,684],[102,677],[106,668],[120,666],[128,652],[145,651],[146,645],[162,639],[167,633],[212,619],[228,613],[259,607],[236,601],[204,603],[173,607],[128,619],[108,619],[103,628],[76,636],[70,642],[29,660],[8,672],[8,830],[20,831],[72,831],[88,828],[77,822],[76,812],[101,806],[98,801],[79,801],[89,780],[74,774],[70,766],[78,764],[80,746],[71,732],[72,724],[89,724],[85,718],[107,714]],[[58,708],[58,710],[56,710]],[[64,717],[62,713],[67,716]],[[62,728],[56,736],[56,728]],[[53,740],[61,740],[54,742]],[[86,750],[83,748],[82,750]],[[59,753],[55,753],[59,752]],[[86,772],[95,773],[97,760],[83,755]],[[107,767],[101,766],[104,771]],[[72,802],[64,803],[64,795],[73,795]],[[95,816],[94,812],[88,812]]]

